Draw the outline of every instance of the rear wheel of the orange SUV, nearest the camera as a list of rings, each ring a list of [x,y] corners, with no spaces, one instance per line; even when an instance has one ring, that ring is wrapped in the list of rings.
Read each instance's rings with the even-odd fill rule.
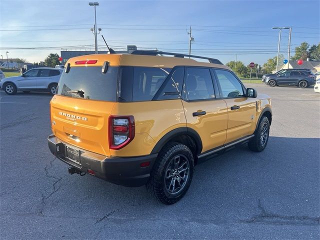
[[[159,152],[146,187],[158,201],[173,204],[186,193],[193,171],[190,149],[181,143],[168,143]]]

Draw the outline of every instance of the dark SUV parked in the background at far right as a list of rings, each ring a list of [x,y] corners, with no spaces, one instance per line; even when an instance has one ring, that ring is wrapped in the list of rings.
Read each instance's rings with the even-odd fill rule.
[[[264,83],[269,86],[295,85],[305,88],[315,84],[315,75],[309,71],[285,71],[278,75],[265,77]]]

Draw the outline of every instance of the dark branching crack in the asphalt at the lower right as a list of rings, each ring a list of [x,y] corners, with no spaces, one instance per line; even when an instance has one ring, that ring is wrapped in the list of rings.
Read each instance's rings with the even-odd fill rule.
[[[295,215],[280,215],[268,212],[262,206],[260,199],[258,199],[258,209],[260,213],[247,220],[241,220],[242,223],[269,223],[269,224],[283,224],[283,225],[319,225],[320,217],[310,216],[295,216]]]

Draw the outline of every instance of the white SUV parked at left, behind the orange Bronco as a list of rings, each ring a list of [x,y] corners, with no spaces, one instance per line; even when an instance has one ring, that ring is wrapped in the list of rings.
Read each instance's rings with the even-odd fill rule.
[[[54,67],[32,68],[20,76],[5,77],[0,80],[0,88],[12,95],[17,91],[48,91],[55,94],[62,69]]]

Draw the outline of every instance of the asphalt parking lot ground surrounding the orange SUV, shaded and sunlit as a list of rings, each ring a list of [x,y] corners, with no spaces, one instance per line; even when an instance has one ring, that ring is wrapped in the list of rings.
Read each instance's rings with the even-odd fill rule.
[[[272,97],[268,145],[195,168],[186,195],[67,173],[47,147],[47,93],[0,91],[1,239],[319,239],[320,93],[246,84]]]

